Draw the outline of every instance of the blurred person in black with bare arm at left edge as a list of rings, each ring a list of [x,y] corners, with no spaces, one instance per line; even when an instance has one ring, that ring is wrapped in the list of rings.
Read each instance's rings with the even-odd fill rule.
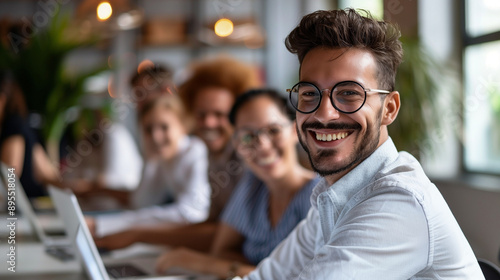
[[[46,185],[61,186],[61,180],[28,125],[27,113],[20,87],[10,72],[0,70],[0,158],[14,168],[27,196],[34,198],[47,195]]]

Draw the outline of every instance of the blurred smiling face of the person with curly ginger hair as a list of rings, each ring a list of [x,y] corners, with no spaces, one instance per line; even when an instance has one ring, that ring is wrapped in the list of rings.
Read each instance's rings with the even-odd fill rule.
[[[233,95],[222,88],[206,88],[196,94],[193,102],[195,133],[211,154],[221,153],[230,145],[233,129],[228,115],[233,103]]]

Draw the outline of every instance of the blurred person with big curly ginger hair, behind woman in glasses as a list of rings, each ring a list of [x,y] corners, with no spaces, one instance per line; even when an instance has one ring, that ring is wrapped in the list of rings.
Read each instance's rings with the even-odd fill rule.
[[[189,113],[194,117],[193,133],[209,151],[209,180],[212,206],[209,221],[216,221],[243,168],[230,140],[233,127],[228,115],[237,96],[260,85],[255,68],[221,56],[194,65],[192,75],[179,88]]]

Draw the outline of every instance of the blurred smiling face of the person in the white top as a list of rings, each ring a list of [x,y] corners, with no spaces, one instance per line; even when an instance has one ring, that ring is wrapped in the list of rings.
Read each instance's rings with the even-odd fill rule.
[[[177,154],[185,131],[175,113],[157,106],[144,115],[141,124],[145,143],[153,154],[163,159],[171,159]]]

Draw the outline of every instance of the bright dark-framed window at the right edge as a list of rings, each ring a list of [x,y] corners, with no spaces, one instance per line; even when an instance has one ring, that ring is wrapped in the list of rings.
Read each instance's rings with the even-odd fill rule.
[[[500,174],[500,1],[463,1],[464,167]]]

